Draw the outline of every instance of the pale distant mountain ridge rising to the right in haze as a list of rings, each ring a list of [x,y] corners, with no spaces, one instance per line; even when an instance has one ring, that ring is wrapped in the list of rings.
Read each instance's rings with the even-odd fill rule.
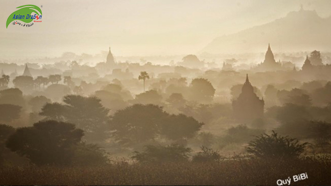
[[[276,52],[331,51],[331,17],[299,10],[267,24],[215,38],[201,52],[238,54],[265,52],[268,43]]]

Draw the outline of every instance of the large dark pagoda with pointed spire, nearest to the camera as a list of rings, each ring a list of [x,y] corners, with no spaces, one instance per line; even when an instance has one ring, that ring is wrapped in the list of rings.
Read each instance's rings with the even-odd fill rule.
[[[240,122],[252,122],[255,119],[263,118],[264,100],[254,93],[248,74],[246,74],[246,82],[241,89],[241,94],[237,100],[232,102],[232,108],[234,117]]]

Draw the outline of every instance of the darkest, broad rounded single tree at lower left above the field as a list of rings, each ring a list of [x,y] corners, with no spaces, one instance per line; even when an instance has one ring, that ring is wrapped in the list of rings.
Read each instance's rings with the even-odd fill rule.
[[[19,128],[9,137],[7,147],[28,157],[33,163],[70,164],[74,158],[73,146],[78,145],[83,131],[74,124],[44,121],[33,127]]]

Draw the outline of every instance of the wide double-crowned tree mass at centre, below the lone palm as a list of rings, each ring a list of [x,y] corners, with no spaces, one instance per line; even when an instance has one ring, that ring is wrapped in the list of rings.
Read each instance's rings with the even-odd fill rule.
[[[121,144],[132,145],[153,140],[161,135],[181,141],[193,137],[201,128],[186,115],[170,115],[157,105],[135,104],[115,112],[111,120],[113,137]]]

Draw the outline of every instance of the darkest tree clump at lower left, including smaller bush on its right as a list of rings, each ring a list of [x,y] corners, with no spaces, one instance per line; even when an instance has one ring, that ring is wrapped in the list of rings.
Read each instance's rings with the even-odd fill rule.
[[[6,147],[37,165],[91,165],[108,161],[103,149],[83,142],[83,130],[71,123],[49,120],[16,130],[8,125],[0,128],[1,139],[7,138]],[[3,144],[1,141],[2,148]]]

